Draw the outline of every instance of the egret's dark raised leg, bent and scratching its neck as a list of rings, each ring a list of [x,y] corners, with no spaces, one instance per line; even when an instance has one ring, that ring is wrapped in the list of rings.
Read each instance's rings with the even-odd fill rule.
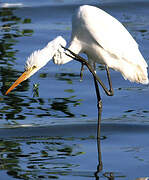
[[[62,46],[63,47],[63,46]],[[110,73],[109,73],[109,69],[108,67],[106,67],[106,71],[107,71],[107,76],[108,76],[108,82],[109,82],[109,86],[110,86],[110,90],[108,90],[106,88],[106,86],[104,85],[104,83],[100,80],[100,78],[96,75],[94,69],[92,68],[92,66],[81,56],[75,54],[74,52],[72,52],[71,50],[63,47],[65,50],[67,50],[69,52],[69,54],[67,52],[65,52],[65,54],[71,58],[73,58],[76,61],[79,61],[80,63],[82,63],[83,65],[86,65],[87,68],[89,69],[89,71],[92,73],[92,75],[96,78],[96,80],[98,81],[98,83],[101,85],[101,87],[103,88],[103,90],[105,91],[105,93],[108,96],[113,96],[114,92],[112,89],[112,83],[111,83],[111,78],[110,78]]]

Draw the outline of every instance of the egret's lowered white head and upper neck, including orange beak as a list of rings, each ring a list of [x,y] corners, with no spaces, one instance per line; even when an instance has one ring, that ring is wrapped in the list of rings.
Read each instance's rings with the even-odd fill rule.
[[[35,74],[39,69],[45,66],[49,60],[55,55],[59,48],[66,46],[66,41],[61,36],[50,41],[46,47],[41,50],[34,51],[27,59],[25,64],[25,71],[7,90],[6,95],[18,86],[22,81],[28,79]]]

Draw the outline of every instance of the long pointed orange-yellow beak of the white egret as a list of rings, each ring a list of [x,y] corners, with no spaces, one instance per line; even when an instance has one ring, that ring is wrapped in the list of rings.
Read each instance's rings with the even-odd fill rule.
[[[14,83],[13,85],[7,90],[5,95],[7,95],[10,91],[12,91],[16,86],[18,86],[22,81],[28,79],[32,75],[32,70],[26,70]]]

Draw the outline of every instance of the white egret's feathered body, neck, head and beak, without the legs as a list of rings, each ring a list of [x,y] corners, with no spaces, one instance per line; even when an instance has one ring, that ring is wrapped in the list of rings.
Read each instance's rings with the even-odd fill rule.
[[[72,60],[62,46],[66,41],[58,36],[48,45],[35,51],[26,61],[25,72],[7,90],[8,94],[52,58],[56,64]],[[105,11],[89,5],[80,6],[72,18],[72,34],[68,49],[85,53],[90,64],[100,63],[121,72],[125,79],[148,84],[147,63],[138,44],[126,28]],[[69,52],[68,52],[69,53]]]

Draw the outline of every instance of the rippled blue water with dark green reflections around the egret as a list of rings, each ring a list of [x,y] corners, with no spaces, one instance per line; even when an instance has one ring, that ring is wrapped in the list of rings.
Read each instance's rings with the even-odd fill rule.
[[[80,64],[52,61],[8,96],[4,93],[24,71],[26,58],[61,35],[71,35],[71,16],[93,4],[120,20],[149,63],[149,2],[1,1],[0,136],[3,179],[125,179],[149,176],[148,86],[125,81],[111,70],[115,95],[103,100],[101,152],[96,144],[97,109],[92,76],[80,82]],[[105,71],[98,66],[106,82]],[[33,85],[39,84],[38,96]],[[126,123],[126,124],[125,124]]]

